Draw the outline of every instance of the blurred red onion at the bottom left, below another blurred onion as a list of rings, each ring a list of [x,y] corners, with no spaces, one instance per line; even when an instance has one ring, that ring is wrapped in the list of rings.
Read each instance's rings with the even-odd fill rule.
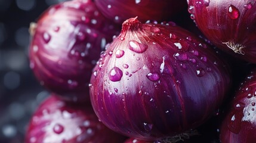
[[[122,142],[124,136],[98,121],[90,105],[72,104],[50,96],[30,120],[26,143]]]

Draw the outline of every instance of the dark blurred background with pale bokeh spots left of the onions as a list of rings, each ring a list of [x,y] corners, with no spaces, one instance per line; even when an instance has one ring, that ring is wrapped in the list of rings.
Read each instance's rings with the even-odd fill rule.
[[[64,0],[0,0],[0,142],[24,142],[27,123],[48,96],[29,68],[29,24]]]

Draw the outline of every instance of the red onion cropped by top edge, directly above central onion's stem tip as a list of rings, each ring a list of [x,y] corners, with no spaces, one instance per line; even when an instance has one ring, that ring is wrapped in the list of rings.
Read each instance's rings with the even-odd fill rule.
[[[119,24],[136,16],[143,23],[147,20],[168,21],[186,8],[184,0],[95,0],[95,4],[107,18]]]

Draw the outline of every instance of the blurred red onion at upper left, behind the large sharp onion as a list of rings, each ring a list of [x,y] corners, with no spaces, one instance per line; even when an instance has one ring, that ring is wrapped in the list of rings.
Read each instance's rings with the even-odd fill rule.
[[[118,28],[91,0],[75,0],[48,8],[34,32],[30,67],[41,85],[65,100],[89,101],[91,70]]]

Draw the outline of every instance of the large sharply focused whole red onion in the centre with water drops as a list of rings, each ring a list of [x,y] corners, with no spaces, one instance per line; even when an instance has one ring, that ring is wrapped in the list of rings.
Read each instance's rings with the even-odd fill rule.
[[[229,90],[229,67],[217,56],[174,23],[131,18],[93,70],[92,107],[104,125],[131,138],[156,140],[196,128]]]

